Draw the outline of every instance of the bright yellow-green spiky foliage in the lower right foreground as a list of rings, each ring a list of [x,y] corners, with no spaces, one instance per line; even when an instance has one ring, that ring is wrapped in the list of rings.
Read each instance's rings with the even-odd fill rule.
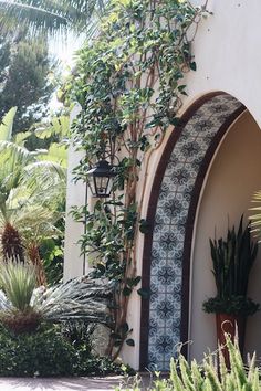
[[[225,364],[221,350],[217,353],[206,356],[202,363],[192,360],[189,364],[184,356],[171,359],[170,373],[168,377],[160,377],[156,373],[156,380],[149,388],[142,388],[142,381],[135,378],[134,384],[124,384],[119,390],[152,390],[152,391],[259,391],[261,388],[261,372],[255,363],[255,356],[249,359],[246,367],[240,355],[238,345],[233,345],[227,336],[231,369]]]

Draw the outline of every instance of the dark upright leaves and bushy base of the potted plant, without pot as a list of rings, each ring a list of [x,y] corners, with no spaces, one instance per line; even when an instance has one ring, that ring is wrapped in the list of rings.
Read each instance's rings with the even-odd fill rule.
[[[243,216],[237,232],[234,226],[228,229],[226,240],[210,239],[210,249],[217,297],[205,302],[205,310],[216,313],[217,309],[225,309],[226,314],[252,315],[259,305],[247,298],[247,292],[258,244],[252,242],[250,226],[243,229]]]

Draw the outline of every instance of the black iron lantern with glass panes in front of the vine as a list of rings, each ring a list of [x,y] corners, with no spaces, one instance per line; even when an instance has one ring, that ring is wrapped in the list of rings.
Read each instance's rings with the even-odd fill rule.
[[[101,160],[86,175],[93,197],[108,198],[111,196],[113,179],[116,176],[114,166],[111,166],[106,160]]]

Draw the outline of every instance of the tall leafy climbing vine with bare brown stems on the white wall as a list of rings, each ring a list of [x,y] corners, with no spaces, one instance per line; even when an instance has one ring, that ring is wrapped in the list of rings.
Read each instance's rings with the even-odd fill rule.
[[[126,321],[133,290],[147,294],[137,289],[136,237],[147,231],[138,180],[166,130],[178,124],[184,76],[196,71],[191,41],[205,12],[206,7],[181,0],[111,1],[98,35],[79,52],[66,85],[82,107],[73,137],[85,154],[75,178],[86,181],[86,171],[101,159],[117,173],[111,199],[98,199],[92,211],[88,205],[74,209],[75,219],[86,224],[80,243],[94,260],[94,277],[114,284],[112,357],[124,342],[134,346]]]

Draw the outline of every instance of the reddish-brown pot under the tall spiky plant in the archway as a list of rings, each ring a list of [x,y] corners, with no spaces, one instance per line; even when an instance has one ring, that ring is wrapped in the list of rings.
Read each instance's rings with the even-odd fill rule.
[[[236,335],[238,334],[239,349],[242,355],[244,346],[246,323],[246,316],[216,314],[218,345],[221,346],[227,368],[230,368],[230,362],[229,352],[226,347],[225,334],[229,334],[232,341],[234,340]]]

